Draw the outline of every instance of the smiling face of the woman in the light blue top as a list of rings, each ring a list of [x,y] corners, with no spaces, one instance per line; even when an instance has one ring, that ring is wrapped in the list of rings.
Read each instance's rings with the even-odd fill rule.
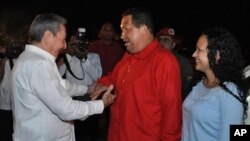
[[[196,50],[192,55],[196,63],[195,69],[202,72],[211,70],[209,67],[207,45],[207,37],[205,35],[201,35],[197,41]]]

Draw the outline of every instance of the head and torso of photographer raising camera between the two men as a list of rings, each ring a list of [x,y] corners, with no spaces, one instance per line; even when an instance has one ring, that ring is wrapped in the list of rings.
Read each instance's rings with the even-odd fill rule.
[[[100,56],[88,52],[88,42],[72,34],[59,72],[70,83],[92,85],[102,76]]]

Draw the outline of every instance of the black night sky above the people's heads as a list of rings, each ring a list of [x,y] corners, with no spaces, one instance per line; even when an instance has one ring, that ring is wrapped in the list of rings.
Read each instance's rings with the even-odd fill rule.
[[[155,32],[172,26],[190,50],[201,30],[219,26],[238,38],[249,60],[250,5],[247,0],[1,0],[0,31],[23,38],[31,20],[40,13],[54,12],[68,20],[68,30],[84,26],[97,38],[105,21],[115,24],[120,32],[121,14],[134,6],[149,9],[154,17]]]

